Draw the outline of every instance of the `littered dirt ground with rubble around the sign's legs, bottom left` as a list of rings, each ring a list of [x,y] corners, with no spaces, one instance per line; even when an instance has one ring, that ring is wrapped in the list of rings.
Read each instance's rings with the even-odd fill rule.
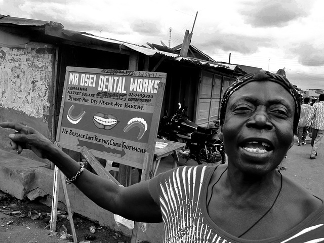
[[[67,213],[58,211],[56,232],[49,230],[51,209],[37,201],[19,200],[0,193],[1,243],[73,242]],[[73,215],[78,242],[129,243],[130,237]],[[94,233],[90,232],[94,227]]]

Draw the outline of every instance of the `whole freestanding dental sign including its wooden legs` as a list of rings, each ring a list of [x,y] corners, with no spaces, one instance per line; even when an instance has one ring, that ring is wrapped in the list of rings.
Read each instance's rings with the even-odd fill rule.
[[[141,181],[150,177],[167,77],[166,73],[135,71],[138,60],[138,53],[132,52],[129,70],[66,67],[56,137],[56,143],[60,148],[82,153],[100,177],[123,186],[130,185],[132,167],[142,170]],[[84,82],[85,78],[89,78],[87,79],[89,82]],[[116,89],[105,83],[108,81],[111,87],[115,82]],[[145,87],[141,82],[146,84]],[[72,114],[74,108],[80,112],[79,115]],[[118,117],[120,124],[124,123],[123,126],[109,127],[109,133],[100,130],[101,126],[106,125],[97,121],[94,123],[92,114],[94,110],[98,112],[97,114],[106,114],[107,109],[116,120]],[[134,120],[138,119],[140,123],[135,123]],[[89,126],[90,124],[93,126]],[[139,133],[131,133],[134,131],[133,127],[138,127]],[[118,181],[103,168],[95,156],[119,164]],[[55,230],[60,176],[72,233],[75,234],[64,176],[56,167],[51,229]],[[139,225],[135,223],[132,243],[137,243]],[[76,236],[73,235],[73,239],[76,242]]]

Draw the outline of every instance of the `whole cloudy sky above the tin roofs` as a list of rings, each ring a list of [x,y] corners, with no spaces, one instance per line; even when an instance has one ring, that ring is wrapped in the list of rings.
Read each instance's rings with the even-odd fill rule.
[[[3,15],[146,47],[175,47],[189,30],[215,61],[285,68],[302,90],[324,89],[323,9],[322,0],[0,0]]]

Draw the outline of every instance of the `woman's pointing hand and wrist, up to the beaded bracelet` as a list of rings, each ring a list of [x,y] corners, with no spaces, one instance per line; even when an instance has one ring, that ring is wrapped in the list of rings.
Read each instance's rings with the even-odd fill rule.
[[[0,123],[0,127],[16,130],[14,134],[9,134],[9,138],[11,139],[11,148],[16,150],[18,154],[23,149],[30,149],[38,157],[47,158],[46,148],[53,146],[53,143],[41,133],[18,123]]]

